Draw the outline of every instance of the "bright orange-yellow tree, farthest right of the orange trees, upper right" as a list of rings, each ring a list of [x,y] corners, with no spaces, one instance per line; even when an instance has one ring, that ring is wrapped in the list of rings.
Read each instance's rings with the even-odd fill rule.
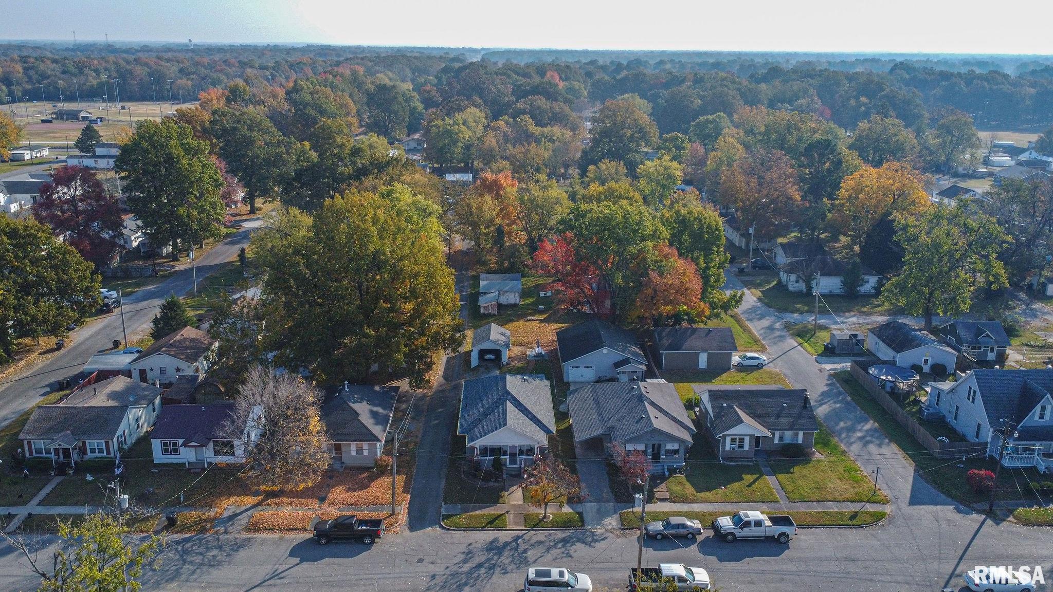
[[[833,226],[855,249],[880,220],[896,213],[921,213],[932,206],[921,175],[909,164],[865,166],[846,177],[830,213]]]

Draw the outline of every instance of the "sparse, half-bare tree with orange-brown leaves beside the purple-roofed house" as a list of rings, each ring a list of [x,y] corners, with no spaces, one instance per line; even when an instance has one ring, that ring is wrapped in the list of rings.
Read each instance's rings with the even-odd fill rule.
[[[331,461],[321,403],[321,391],[294,373],[249,371],[220,432],[235,446],[244,442],[243,474],[253,484],[300,490],[321,479]]]

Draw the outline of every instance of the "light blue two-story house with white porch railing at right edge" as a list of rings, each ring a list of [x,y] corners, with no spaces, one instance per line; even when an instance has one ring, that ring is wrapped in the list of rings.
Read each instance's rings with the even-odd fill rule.
[[[1009,430],[1004,467],[1053,472],[1053,370],[976,369],[955,382],[937,382],[928,404],[971,442],[998,456]]]

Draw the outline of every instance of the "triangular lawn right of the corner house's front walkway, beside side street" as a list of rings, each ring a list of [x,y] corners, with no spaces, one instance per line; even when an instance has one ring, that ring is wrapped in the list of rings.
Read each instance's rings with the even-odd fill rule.
[[[874,493],[874,481],[822,423],[819,423],[819,432],[815,435],[815,450],[822,455],[821,458],[769,460],[790,501],[889,502],[880,489]]]

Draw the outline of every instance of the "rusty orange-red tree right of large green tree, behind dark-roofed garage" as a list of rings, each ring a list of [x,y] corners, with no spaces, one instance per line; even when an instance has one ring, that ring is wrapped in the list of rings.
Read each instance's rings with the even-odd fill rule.
[[[710,308],[702,302],[702,280],[695,263],[668,244],[657,245],[652,258],[636,296],[634,316],[656,327],[694,324],[704,319]]]

